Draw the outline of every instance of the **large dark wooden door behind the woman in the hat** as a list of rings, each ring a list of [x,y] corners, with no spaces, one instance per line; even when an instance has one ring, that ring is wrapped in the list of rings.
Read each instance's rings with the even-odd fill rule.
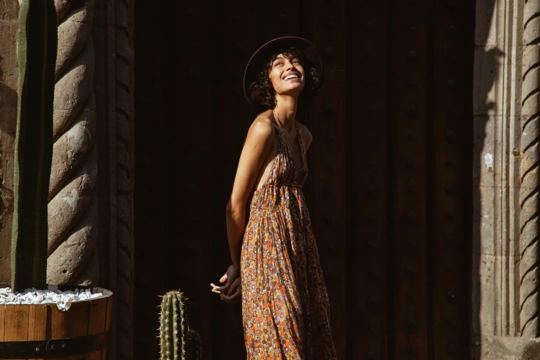
[[[243,69],[313,41],[325,86],[303,191],[339,359],[466,359],[472,29],[465,0],[178,1],[135,6],[135,359],[158,356],[158,295],[186,293],[205,359],[243,359],[225,208],[254,112]]]

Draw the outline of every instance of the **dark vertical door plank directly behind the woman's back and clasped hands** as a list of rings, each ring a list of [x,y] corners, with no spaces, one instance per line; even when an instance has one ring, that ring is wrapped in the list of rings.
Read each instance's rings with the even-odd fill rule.
[[[225,209],[243,142],[256,115],[243,94],[243,72],[257,49],[255,1],[236,1],[234,6],[221,2],[216,10],[217,54],[213,71],[218,87],[212,108],[212,239],[217,242],[212,281],[219,281],[230,266]],[[241,304],[230,305],[212,295],[212,312],[216,316],[221,314],[220,332],[212,338],[214,358],[219,354],[223,360],[245,359]]]

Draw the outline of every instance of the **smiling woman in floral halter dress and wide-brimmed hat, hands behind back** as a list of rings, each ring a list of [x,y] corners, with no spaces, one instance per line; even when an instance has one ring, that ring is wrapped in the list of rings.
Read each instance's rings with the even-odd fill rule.
[[[312,135],[295,119],[321,87],[312,43],[274,39],[250,59],[248,131],[227,206],[232,266],[212,291],[242,301],[248,359],[336,359],[330,305],[301,186]],[[248,199],[250,217],[246,226]]]

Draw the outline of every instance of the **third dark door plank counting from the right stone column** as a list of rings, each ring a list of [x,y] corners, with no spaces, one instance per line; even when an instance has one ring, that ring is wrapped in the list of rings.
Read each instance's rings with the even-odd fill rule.
[[[387,1],[347,14],[347,359],[388,359]]]

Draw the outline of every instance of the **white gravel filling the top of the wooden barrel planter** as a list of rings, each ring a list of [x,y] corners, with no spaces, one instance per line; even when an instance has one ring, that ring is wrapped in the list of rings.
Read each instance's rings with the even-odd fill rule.
[[[40,303],[55,303],[58,310],[69,310],[71,304],[76,301],[84,301],[89,299],[95,299],[101,297],[103,294],[92,294],[92,290],[79,290],[75,291],[66,290],[36,290],[26,289],[24,292],[11,292],[10,288],[0,288],[0,305],[26,305],[26,304],[40,304]]]

